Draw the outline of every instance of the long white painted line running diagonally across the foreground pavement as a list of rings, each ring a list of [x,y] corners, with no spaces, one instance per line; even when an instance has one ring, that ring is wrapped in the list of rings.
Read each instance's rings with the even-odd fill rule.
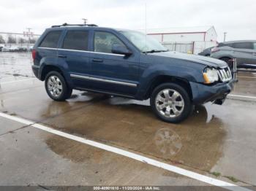
[[[219,179],[211,178],[209,176],[205,176],[205,175],[202,175],[202,174],[197,174],[195,172],[188,171],[184,168],[180,168],[180,167],[177,167],[175,165],[162,163],[158,160],[154,160],[154,159],[151,159],[149,157],[144,157],[143,155],[138,155],[136,153],[129,152],[129,151],[126,151],[124,149],[119,149],[117,147],[112,147],[112,146],[109,146],[107,144],[102,144],[102,143],[99,143],[97,141],[91,141],[89,139],[85,139],[85,138],[82,138],[82,137],[79,137],[79,136],[73,136],[69,133],[64,133],[60,130],[55,130],[53,128],[48,128],[44,125],[40,125],[38,123],[31,122],[29,120],[23,120],[23,119],[20,119],[19,117],[10,116],[9,114],[4,114],[4,113],[1,113],[1,112],[0,112],[0,116],[5,117],[5,118],[10,119],[10,120],[17,121],[17,122],[22,122],[26,125],[31,125],[34,128],[45,130],[49,133],[53,133],[53,134],[56,134],[58,136],[62,136],[62,137],[67,138],[67,139],[71,139],[71,140],[78,141],[78,142],[83,143],[83,144],[91,145],[92,147],[97,147],[99,149],[103,149],[103,150],[106,150],[106,151],[109,151],[109,152],[113,152],[113,153],[116,153],[118,155],[129,157],[129,158],[132,158],[134,160],[138,160],[138,161],[143,162],[143,163],[148,163],[149,165],[154,165],[158,168],[163,168],[167,171],[171,171],[171,172],[174,172],[176,174],[181,174],[183,176],[187,176],[189,178],[196,179],[200,182],[206,182],[207,184],[211,184],[211,185],[214,185],[214,186],[217,186],[217,187],[223,187],[227,190],[249,191],[249,189],[246,189],[245,187],[239,187],[236,184],[231,184],[231,183],[219,180]]]

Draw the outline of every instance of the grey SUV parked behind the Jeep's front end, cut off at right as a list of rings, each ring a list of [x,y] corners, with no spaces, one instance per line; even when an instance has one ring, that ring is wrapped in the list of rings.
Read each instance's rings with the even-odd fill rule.
[[[211,57],[228,63],[237,58],[238,68],[256,69],[256,41],[222,42],[211,49]]]

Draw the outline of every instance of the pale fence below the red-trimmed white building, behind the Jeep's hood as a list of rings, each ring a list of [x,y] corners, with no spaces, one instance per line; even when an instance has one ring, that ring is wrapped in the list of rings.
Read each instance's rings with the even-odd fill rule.
[[[162,44],[171,51],[198,54],[208,47],[216,46],[217,42],[162,42]]]

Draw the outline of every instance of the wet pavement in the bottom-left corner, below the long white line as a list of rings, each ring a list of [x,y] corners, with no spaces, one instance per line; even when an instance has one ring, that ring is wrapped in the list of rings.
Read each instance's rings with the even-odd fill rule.
[[[0,136],[1,186],[206,185],[42,130],[23,128],[18,122],[0,120],[18,128]]]

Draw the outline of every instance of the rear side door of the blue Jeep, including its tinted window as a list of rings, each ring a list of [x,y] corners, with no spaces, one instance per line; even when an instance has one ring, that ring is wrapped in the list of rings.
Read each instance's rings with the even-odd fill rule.
[[[75,87],[86,87],[86,83],[81,76],[88,75],[91,67],[89,64],[89,30],[69,29],[66,31],[63,43],[58,51],[59,63],[67,66],[67,71]]]

